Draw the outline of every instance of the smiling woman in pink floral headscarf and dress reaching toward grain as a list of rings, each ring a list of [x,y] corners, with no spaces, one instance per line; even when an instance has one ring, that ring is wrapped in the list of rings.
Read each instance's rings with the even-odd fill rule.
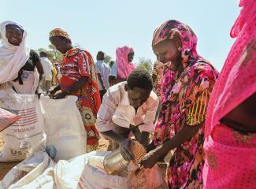
[[[154,31],[152,47],[167,66],[162,80],[162,109],[151,150],[140,162],[151,168],[170,150],[169,188],[202,188],[206,106],[217,71],[196,51],[197,37],[187,24],[165,21]]]

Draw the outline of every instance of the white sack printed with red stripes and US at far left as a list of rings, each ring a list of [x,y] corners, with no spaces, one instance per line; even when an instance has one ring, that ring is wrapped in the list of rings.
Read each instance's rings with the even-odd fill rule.
[[[46,135],[37,95],[19,95],[12,88],[0,89],[0,107],[20,117],[2,134],[6,140],[0,162],[22,161],[36,151],[45,150]]]

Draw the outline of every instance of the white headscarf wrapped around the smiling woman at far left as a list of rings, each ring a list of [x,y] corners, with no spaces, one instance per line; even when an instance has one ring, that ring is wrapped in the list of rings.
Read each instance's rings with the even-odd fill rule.
[[[19,46],[9,43],[6,38],[6,25],[17,25],[23,32],[23,38]],[[26,44],[27,31],[17,22],[4,21],[0,24],[2,46],[0,47],[0,84],[17,78],[18,72],[26,64],[29,58],[30,48]]]

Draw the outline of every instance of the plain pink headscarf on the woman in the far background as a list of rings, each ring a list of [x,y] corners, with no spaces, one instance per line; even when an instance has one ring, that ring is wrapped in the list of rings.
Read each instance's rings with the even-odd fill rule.
[[[128,54],[131,52],[134,51],[132,47],[129,46],[118,47],[116,50],[118,79],[127,79],[132,70],[136,68],[132,62],[128,62]]]

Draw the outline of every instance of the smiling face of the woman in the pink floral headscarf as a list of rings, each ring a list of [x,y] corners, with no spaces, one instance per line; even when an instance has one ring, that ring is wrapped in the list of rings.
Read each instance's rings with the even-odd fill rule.
[[[154,54],[157,56],[158,61],[165,64],[172,61],[172,64],[176,63],[177,57],[180,56],[176,43],[171,39],[166,39],[155,46],[153,46]]]

